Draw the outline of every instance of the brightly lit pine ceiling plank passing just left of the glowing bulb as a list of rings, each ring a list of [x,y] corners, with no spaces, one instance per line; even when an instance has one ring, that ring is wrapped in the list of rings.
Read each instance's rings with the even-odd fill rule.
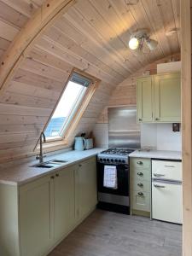
[[[116,37],[124,44],[124,49],[121,49],[122,53],[126,56],[132,67],[136,69],[141,67],[141,63],[138,61],[137,56],[133,54],[131,49],[128,47],[128,41],[131,36],[129,26],[124,26],[124,23],[119,19],[113,6],[108,0],[90,0],[90,3],[95,7],[100,15],[102,15],[103,21],[111,27],[115,32]]]

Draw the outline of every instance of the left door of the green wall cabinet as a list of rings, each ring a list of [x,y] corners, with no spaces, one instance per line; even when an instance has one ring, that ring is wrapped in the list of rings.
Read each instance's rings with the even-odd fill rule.
[[[137,122],[153,122],[154,90],[152,77],[137,79]]]

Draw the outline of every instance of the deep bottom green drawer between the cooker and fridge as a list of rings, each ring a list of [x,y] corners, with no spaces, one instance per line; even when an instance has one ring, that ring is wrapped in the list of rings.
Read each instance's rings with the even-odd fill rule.
[[[150,212],[150,193],[131,191],[131,207],[133,210]]]

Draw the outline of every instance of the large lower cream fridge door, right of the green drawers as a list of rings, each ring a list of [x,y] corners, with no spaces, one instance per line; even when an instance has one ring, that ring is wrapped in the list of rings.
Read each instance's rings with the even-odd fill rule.
[[[182,183],[152,182],[152,218],[182,224]]]

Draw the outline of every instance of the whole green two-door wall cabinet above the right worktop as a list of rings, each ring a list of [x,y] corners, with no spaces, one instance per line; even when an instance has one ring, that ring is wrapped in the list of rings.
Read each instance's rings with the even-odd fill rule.
[[[180,73],[137,79],[137,122],[181,122]]]

